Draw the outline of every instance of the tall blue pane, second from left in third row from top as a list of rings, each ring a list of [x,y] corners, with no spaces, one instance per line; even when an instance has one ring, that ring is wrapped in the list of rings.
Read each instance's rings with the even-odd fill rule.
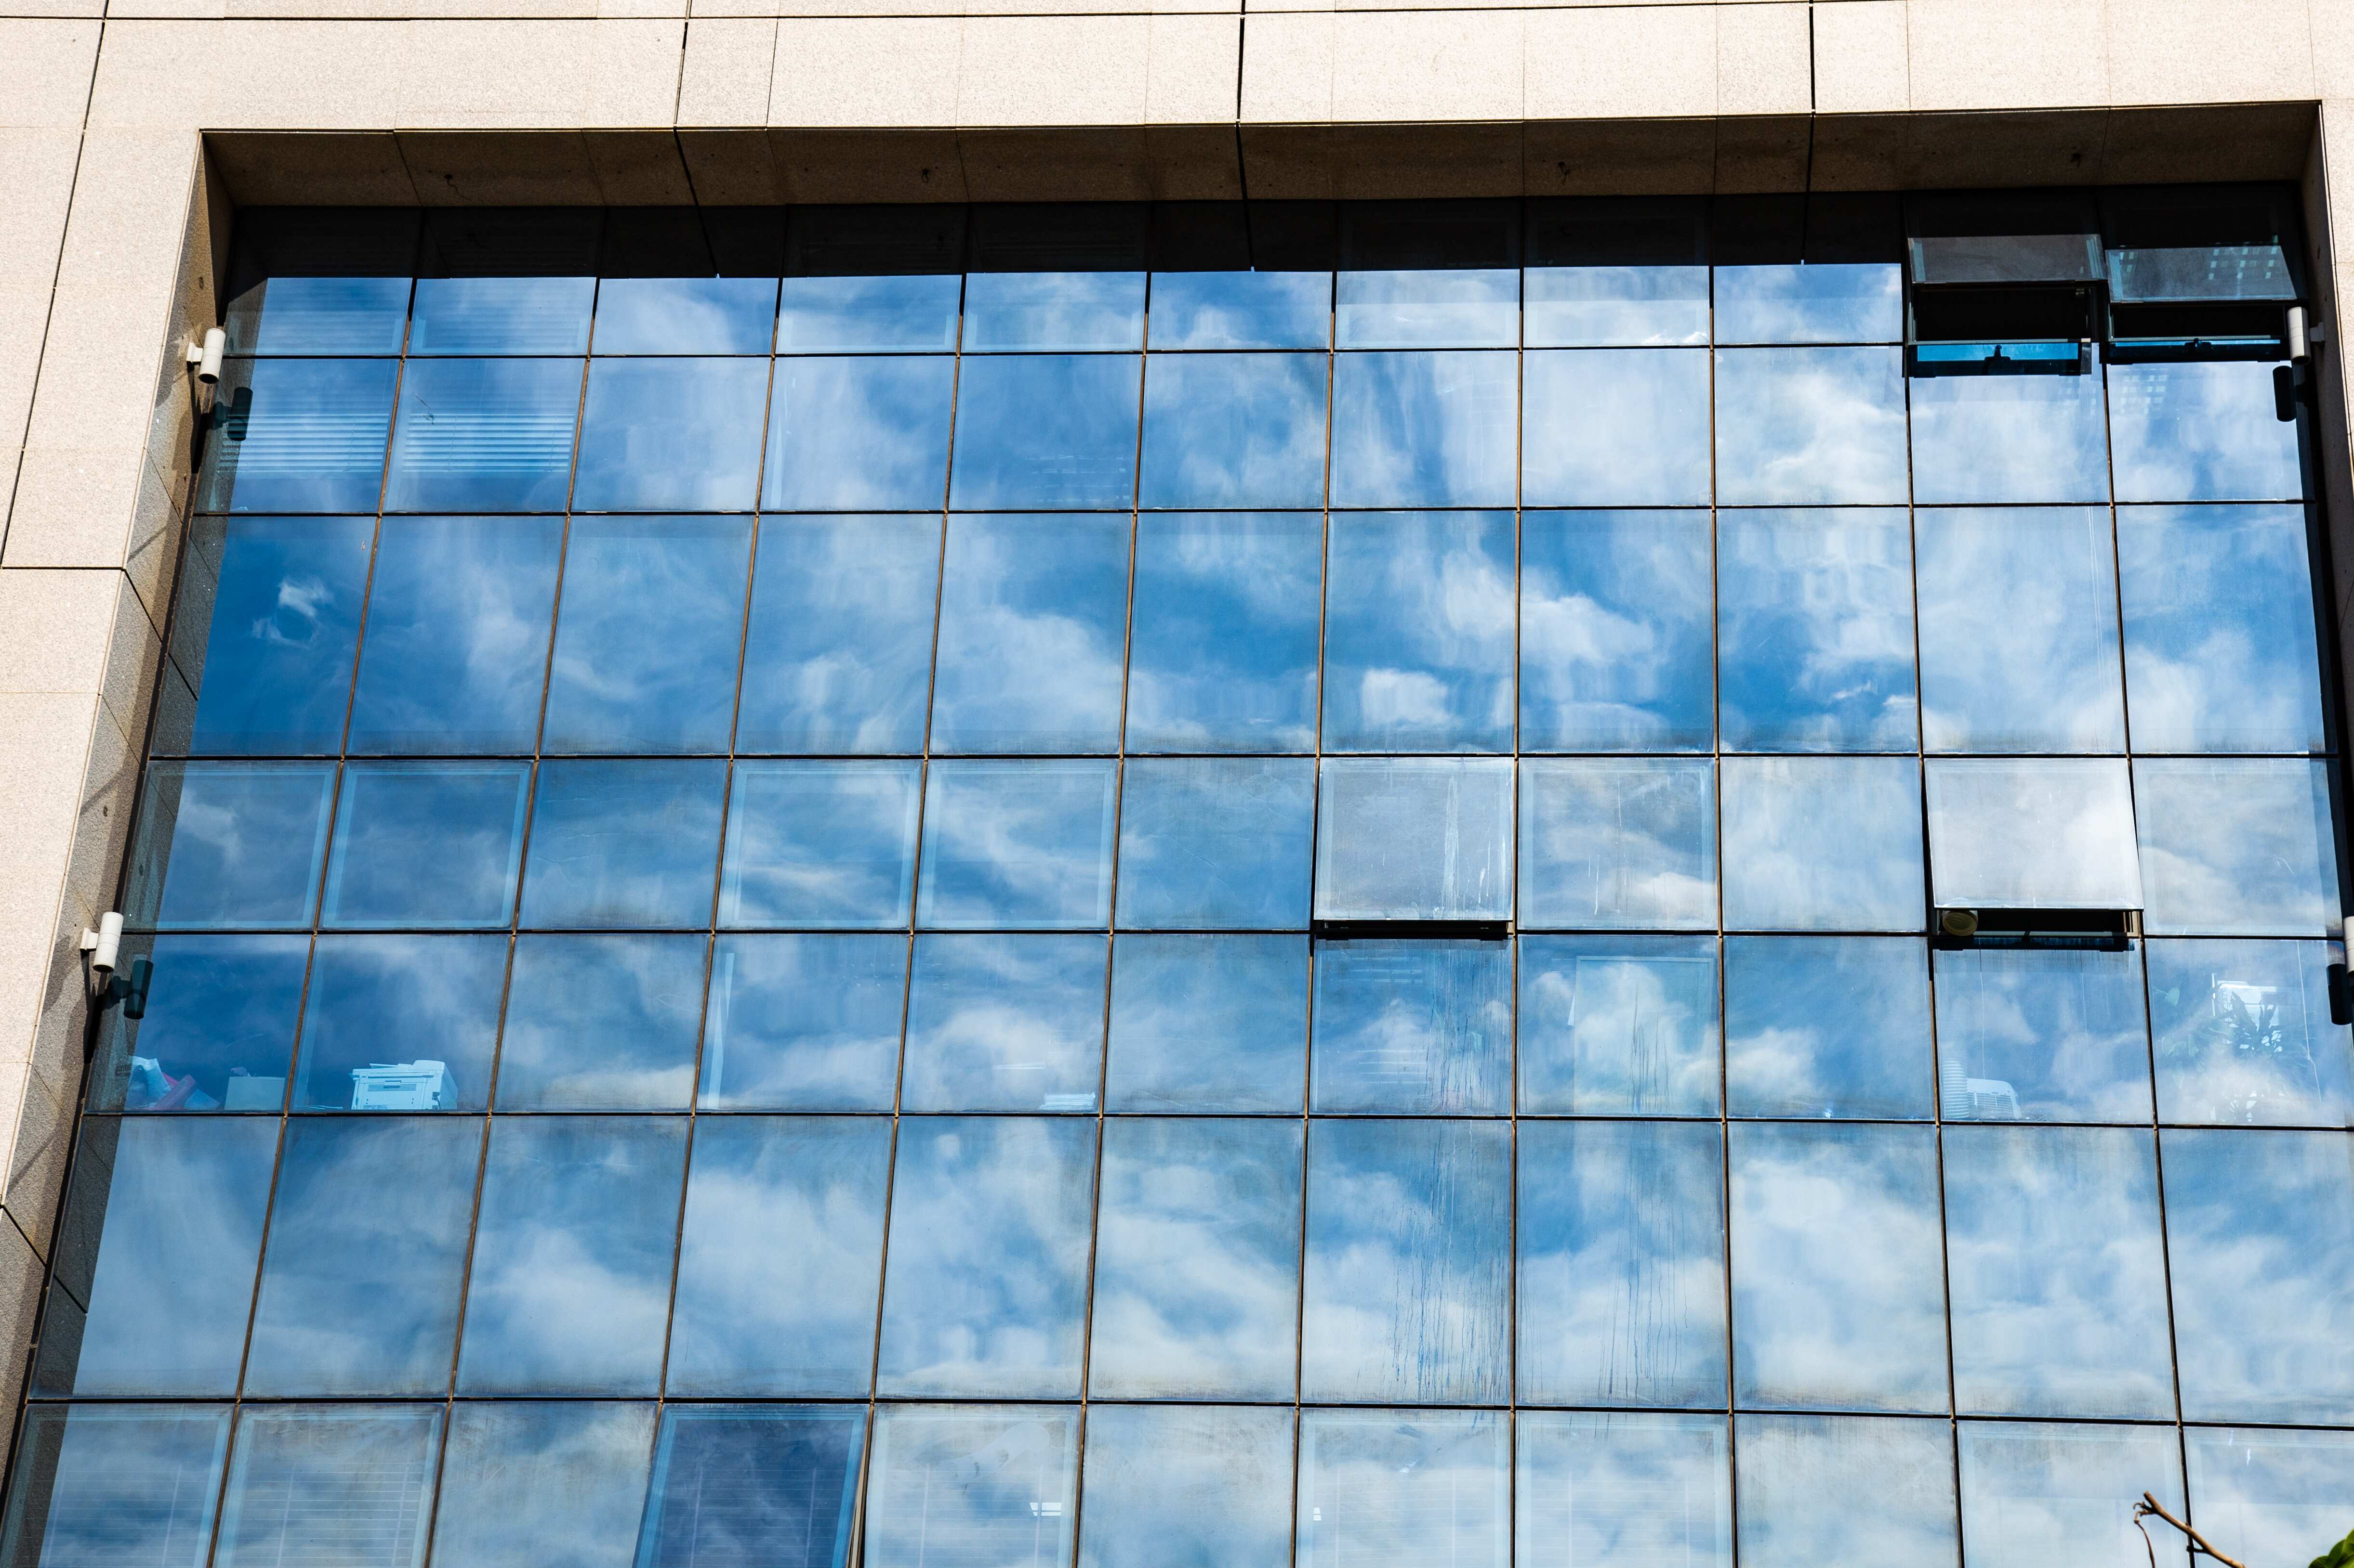
[[[530,752],[563,545],[560,517],[386,517],[351,750]]]

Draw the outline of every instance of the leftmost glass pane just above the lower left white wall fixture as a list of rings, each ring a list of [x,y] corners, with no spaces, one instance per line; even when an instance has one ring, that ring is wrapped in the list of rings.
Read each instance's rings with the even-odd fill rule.
[[[332,762],[151,762],[127,924],[308,926],[332,795]]]

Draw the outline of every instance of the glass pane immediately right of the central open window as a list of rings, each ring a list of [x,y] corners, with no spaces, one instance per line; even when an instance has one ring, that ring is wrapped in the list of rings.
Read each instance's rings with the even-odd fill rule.
[[[1521,764],[1521,926],[1716,924],[1716,766]]]

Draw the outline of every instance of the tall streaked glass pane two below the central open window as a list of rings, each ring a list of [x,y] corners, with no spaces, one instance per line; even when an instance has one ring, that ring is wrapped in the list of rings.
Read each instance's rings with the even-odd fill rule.
[[[1511,1126],[1314,1121],[1304,1291],[1302,1399],[1504,1403]]]

